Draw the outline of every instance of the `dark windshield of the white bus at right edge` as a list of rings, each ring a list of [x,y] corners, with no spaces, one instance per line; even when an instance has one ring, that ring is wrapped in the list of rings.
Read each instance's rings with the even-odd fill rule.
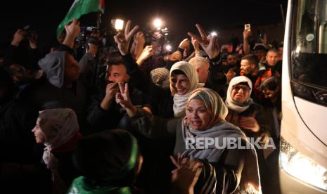
[[[327,89],[327,0],[295,1],[291,72],[293,82]]]

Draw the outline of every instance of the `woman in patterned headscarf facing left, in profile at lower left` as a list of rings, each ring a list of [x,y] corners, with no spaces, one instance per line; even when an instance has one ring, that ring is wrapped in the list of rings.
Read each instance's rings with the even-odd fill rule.
[[[32,132],[37,143],[43,143],[43,161],[51,170],[53,193],[66,193],[75,179],[71,155],[82,138],[74,110],[58,108],[39,112]]]

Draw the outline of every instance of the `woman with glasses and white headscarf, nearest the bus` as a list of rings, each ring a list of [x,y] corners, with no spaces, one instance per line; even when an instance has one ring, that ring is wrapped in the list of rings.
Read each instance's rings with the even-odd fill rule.
[[[271,131],[269,122],[269,112],[252,101],[250,98],[252,91],[252,82],[248,77],[238,76],[231,79],[229,88],[227,89],[226,105],[229,108],[229,114],[226,121],[235,124],[237,127],[250,138],[261,138],[260,144],[268,143]],[[269,142],[272,143],[272,142]],[[271,144],[272,145],[272,144]],[[257,157],[259,162],[259,172],[262,178],[262,190],[269,191],[267,188],[271,184],[271,172],[264,157],[264,153],[268,155],[271,150],[257,149]]]

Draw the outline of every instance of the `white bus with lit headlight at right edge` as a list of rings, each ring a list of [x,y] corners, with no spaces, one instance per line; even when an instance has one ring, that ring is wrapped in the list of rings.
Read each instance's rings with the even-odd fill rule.
[[[327,193],[327,0],[289,0],[283,50],[282,193]]]

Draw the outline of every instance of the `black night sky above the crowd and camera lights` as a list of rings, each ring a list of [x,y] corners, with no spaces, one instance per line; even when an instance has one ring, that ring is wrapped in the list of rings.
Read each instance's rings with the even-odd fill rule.
[[[27,24],[39,32],[41,39],[53,38],[56,27],[63,20],[73,0],[4,1],[1,4],[1,44],[11,39],[15,30]],[[111,18],[132,19],[132,25],[146,27],[155,17],[165,21],[174,37],[195,32],[195,23],[207,30],[281,22],[281,7],[286,12],[286,0],[244,1],[110,1],[105,0],[103,26]],[[96,13],[81,18],[84,25],[96,25]],[[186,35],[185,35],[186,36]]]

